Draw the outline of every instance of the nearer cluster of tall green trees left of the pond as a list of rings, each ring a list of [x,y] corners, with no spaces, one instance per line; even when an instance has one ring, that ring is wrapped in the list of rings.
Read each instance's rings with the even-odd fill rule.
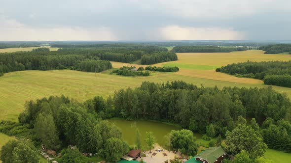
[[[65,96],[29,101],[25,105],[25,112],[19,115],[19,124],[2,121],[0,132],[25,136],[36,146],[45,144],[46,148],[56,151],[73,144],[79,151],[98,153],[107,161],[115,162],[114,159],[120,159],[128,152],[129,145],[122,140],[116,126],[102,120],[97,114],[98,102],[98,98],[95,98],[93,101],[78,103]],[[112,155],[110,143],[116,145],[115,157],[108,158],[107,155]],[[81,155],[78,151],[76,154]],[[80,162],[84,163],[85,160]]]

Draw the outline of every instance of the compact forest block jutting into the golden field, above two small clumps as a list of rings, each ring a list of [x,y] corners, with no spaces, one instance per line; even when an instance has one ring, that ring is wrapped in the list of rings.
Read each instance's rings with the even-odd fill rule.
[[[145,54],[141,58],[141,64],[154,64],[160,62],[168,62],[178,60],[178,56],[174,52],[159,52],[153,54]]]

